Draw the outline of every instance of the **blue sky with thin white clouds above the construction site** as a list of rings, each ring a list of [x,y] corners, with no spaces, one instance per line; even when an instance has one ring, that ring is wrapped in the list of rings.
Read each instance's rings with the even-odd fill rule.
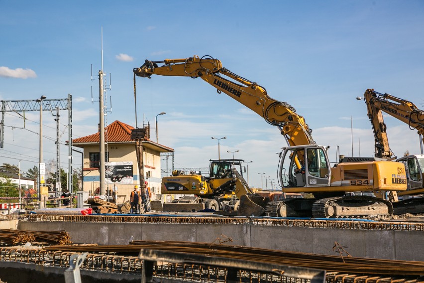
[[[352,155],[373,155],[371,125],[361,96],[367,88],[424,104],[423,1],[11,1],[0,0],[0,100],[50,99],[73,95],[74,138],[97,132],[99,104],[91,81],[101,68],[111,73],[115,120],[135,126],[132,69],[145,59],[211,55],[232,72],[264,86],[305,117],[318,144]],[[120,55],[122,54],[122,55]],[[21,70],[22,69],[22,70]],[[108,76],[107,76],[108,78]],[[249,181],[260,174],[277,179],[277,129],[204,81],[152,76],[137,78],[138,124],[159,117],[159,142],[175,149],[175,167],[207,167],[217,158],[249,164]],[[109,100],[107,101],[108,105]],[[43,134],[55,138],[55,122],[45,112]],[[65,121],[66,113],[62,113]],[[27,113],[27,129],[38,132],[38,113]],[[385,116],[392,150],[419,153],[418,135]],[[33,121],[33,122],[31,122]],[[65,131],[65,124],[61,132]],[[0,163],[24,170],[37,164],[38,136],[14,114],[5,117]],[[12,129],[12,127],[15,127]],[[151,139],[155,140],[152,131]],[[67,134],[62,136],[63,142]],[[55,158],[44,140],[44,159]],[[360,151],[360,152],[359,152]],[[23,155],[17,155],[21,153]],[[67,149],[61,148],[66,167]],[[24,157],[27,156],[27,157]],[[65,160],[65,161],[63,161]],[[79,156],[74,157],[79,167]],[[269,185],[268,185],[269,186]],[[265,187],[265,184],[264,184]]]

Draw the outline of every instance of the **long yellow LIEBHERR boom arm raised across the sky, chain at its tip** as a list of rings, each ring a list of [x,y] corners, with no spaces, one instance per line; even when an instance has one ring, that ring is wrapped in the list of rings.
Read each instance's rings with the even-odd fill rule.
[[[141,67],[134,68],[133,72],[135,76],[147,78],[151,75],[200,77],[216,88],[218,93],[225,93],[257,113],[267,123],[277,126],[290,146],[315,144],[311,136],[312,130],[290,104],[269,97],[264,87],[223,68],[219,60],[210,56],[146,60]]]

